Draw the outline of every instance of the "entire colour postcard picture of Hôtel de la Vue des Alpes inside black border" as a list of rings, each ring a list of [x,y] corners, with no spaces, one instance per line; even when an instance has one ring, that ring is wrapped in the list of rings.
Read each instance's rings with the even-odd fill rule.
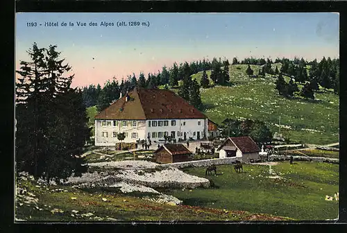
[[[338,220],[338,13],[15,26],[16,223]]]

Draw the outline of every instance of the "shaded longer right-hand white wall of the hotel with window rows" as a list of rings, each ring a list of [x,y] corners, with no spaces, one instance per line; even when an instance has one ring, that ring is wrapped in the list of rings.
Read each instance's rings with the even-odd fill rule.
[[[171,121],[176,121],[176,126],[171,126]],[[156,122],[156,126],[153,126],[153,121]],[[163,121],[162,126],[159,126],[158,121]],[[164,126],[164,121],[169,121],[168,126]],[[200,121],[200,125],[198,125]],[[192,137],[197,139],[197,132],[200,132],[200,139],[203,139],[204,134],[207,135],[207,119],[169,119],[169,120],[147,120],[146,121],[146,139],[148,135],[150,136],[151,141],[164,140],[164,132],[167,132],[167,135],[171,135],[171,131],[175,132],[175,139],[184,139],[184,132],[186,132],[187,139]],[[149,122],[151,122],[151,127],[149,127]],[[156,133],[156,137],[153,137],[153,132]],[[163,132],[162,135],[159,135],[158,132]],[[180,135],[178,136],[178,132]],[[195,132],[195,135],[194,135]],[[159,137],[161,136],[161,137]]]

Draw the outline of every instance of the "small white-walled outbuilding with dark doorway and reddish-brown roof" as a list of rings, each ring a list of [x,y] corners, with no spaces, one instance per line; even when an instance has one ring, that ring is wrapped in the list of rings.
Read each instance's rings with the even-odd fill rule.
[[[219,150],[219,158],[240,157],[244,162],[260,158],[260,148],[249,136],[229,137],[217,150]]]

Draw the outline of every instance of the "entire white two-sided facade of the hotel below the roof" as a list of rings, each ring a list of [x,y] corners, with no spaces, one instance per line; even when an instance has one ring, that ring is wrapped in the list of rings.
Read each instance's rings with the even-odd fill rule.
[[[161,142],[164,135],[187,140],[208,137],[208,119],[95,120],[95,146],[115,146],[117,133],[125,132],[123,142],[151,139]]]

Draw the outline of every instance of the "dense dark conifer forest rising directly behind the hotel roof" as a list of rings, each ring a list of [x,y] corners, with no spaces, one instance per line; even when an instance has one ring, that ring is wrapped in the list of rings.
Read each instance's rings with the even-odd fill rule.
[[[149,73],[147,78],[143,73],[140,73],[138,78],[135,74],[128,76],[125,80],[122,79],[121,83],[114,77],[112,81],[108,80],[103,87],[101,85],[89,85],[88,87],[82,88],[83,101],[86,107],[96,105],[97,110],[101,111],[108,107],[112,101],[116,101],[120,95],[124,96],[126,92],[130,92],[135,87],[143,87],[149,89],[156,89],[159,86],[164,86],[165,89],[169,87],[178,87],[178,82],[182,82],[180,85],[179,95],[189,103],[197,108],[201,108],[201,85],[196,80],[189,80],[192,74],[196,74],[200,71],[207,71],[214,69],[212,77],[216,83],[228,83],[229,73],[228,69],[221,71],[222,66],[229,65],[228,60],[221,61],[221,58],[217,60],[214,58],[212,62],[203,59],[198,62],[183,62],[179,65],[174,62],[171,67],[162,67],[161,71],[157,74]],[[224,79],[221,78],[225,77]],[[209,85],[209,80],[206,76],[206,80]],[[218,80],[218,82],[217,82]]]

